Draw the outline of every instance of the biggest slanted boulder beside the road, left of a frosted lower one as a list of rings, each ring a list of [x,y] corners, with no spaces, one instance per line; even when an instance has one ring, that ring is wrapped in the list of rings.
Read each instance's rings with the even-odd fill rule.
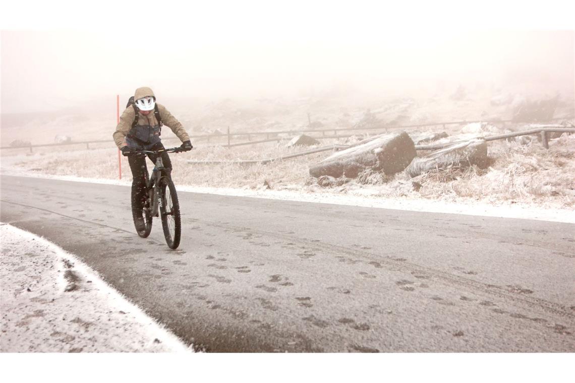
[[[405,131],[388,133],[362,145],[332,154],[309,168],[312,177],[343,175],[355,178],[365,169],[394,174],[403,171],[416,156],[415,145]]]

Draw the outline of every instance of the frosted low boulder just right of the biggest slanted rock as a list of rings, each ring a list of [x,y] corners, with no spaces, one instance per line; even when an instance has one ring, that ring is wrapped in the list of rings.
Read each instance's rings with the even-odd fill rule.
[[[427,156],[413,158],[407,168],[407,173],[415,177],[433,169],[446,169],[450,166],[470,167],[471,165],[477,165],[480,168],[487,167],[487,142],[484,140],[461,142],[436,150]]]

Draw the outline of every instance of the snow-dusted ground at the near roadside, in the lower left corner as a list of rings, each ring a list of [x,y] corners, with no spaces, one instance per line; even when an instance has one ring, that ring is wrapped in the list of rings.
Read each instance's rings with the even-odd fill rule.
[[[1,224],[2,353],[192,352],[53,243]]]

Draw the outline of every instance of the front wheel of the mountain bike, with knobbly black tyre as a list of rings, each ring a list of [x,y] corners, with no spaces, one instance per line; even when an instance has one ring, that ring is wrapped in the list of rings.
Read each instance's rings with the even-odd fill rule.
[[[182,225],[176,188],[173,181],[168,177],[162,177],[160,180],[160,198],[162,200],[160,215],[162,216],[164,237],[170,249],[177,249],[182,234]]]

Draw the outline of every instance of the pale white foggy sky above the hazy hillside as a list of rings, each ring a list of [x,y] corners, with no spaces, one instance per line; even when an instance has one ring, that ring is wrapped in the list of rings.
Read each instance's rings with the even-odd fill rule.
[[[329,31],[328,31],[329,32]],[[2,32],[2,114],[122,103],[140,86],[159,102],[297,98],[338,90],[363,96],[427,96],[465,86],[508,87],[572,99],[573,31],[201,36],[101,31]]]

